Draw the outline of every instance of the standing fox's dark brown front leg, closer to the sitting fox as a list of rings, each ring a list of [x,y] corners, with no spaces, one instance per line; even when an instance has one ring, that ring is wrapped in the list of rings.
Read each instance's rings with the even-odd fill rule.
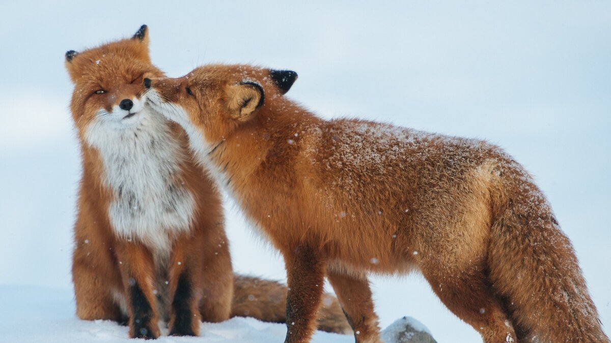
[[[287,338],[285,343],[309,342],[324,286],[325,264],[310,247],[284,253],[287,268]]]

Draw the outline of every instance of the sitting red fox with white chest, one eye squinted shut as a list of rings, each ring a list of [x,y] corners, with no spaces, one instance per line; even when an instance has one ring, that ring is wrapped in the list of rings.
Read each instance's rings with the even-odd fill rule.
[[[233,274],[221,198],[178,125],[144,106],[142,79],[164,74],[133,38],[68,51],[71,112],[81,142],[72,277],[81,319],[128,321],[131,338],[196,336],[200,320],[285,320],[287,289]],[[255,301],[256,300],[256,301]],[[323,330],[347,332],[335,298]]]

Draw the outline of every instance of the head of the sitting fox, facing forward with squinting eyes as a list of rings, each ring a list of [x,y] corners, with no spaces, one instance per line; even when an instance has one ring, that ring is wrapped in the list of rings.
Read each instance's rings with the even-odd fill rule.
[[[75,85],[71,111],[79,130],[93,122],[117,129],[133,125],[144,108],[142,79],[163,76],[151,63],[146,25],[131,38],[70,50],[65,65]]]

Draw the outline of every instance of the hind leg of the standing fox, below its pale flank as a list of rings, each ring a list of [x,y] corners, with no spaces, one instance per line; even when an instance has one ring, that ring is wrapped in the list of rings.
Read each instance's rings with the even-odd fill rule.
[[[485,343],[515,343],[516,333],[509,317],[481,269],[474,265],[453,269],[447,264],[435,264],[423,267],[423,274],[444,305],[477,330]]]

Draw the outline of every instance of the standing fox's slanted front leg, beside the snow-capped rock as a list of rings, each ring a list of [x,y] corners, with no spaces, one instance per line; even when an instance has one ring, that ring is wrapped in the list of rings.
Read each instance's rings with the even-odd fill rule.
[[[327,270],[327,278],[354,331],[356,342],[379,342],[378,316],[373,311],[373,300],[367,276],[349,276]]]

